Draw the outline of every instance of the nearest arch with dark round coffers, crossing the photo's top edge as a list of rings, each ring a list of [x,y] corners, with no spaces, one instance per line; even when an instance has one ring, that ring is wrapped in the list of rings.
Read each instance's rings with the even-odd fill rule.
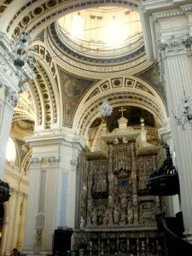
[[[136,0],[79,0],[79,3],[74,1],[73,3],[71,2],[72,1],[68,1],[67,3],[63,4],[63,2],[59,0],[50,0],[44,2],[33,0],[31,3],[29,2],[22,7],[20,6],[19,9],[18,6],[16,6],[17,13],[14,16],[10,16],[9,21],[6,20],[6,31],[10,34],[10,36],[15,38],[15,35],[18,34],[23,27],[27,26],[27,29],[31,32],[31,34],[33,34],[33,38],[35,38],[46,26],[49,26],[61,16],[80,9],[90,9],[112,4],[113,6],[123,6],[124,8],[127,7],[129,9],[137,10],[139,7]],[[9,4],[8,11],[12,8],[13,5]]]

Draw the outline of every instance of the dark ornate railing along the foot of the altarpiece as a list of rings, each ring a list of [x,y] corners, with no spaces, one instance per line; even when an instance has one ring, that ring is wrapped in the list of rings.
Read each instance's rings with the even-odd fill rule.
[[[156,227],[74,230],[72,250],[86,256],[165,256]]]

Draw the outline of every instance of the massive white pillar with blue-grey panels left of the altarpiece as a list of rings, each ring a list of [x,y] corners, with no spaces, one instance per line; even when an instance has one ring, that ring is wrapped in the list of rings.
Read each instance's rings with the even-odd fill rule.
[[[32,166],[22,253],[52,254],[54,231],[75,227],[77,165],[83,145],[52,134],[28,137],[26,143],[32,147]]]

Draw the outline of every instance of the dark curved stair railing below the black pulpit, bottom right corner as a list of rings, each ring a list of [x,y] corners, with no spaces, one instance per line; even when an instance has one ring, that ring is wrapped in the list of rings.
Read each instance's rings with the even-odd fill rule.
[[[165,256],[192,255],[192,244],[185,241],[182,237],[177,236],[177,234],[175,234],[175,232],[168,227],[165,215],[160,213],[157,214],[156,218],[158,223],[160,244],[161,247],[164,247]]]

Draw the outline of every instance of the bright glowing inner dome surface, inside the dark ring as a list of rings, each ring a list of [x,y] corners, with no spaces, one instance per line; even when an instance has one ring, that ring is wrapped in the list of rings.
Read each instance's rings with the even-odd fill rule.
[[[130,54],[143,43],[139,13],[121,7],[73,12],[57,21],[57,29],[70,49],[93,57]]]

